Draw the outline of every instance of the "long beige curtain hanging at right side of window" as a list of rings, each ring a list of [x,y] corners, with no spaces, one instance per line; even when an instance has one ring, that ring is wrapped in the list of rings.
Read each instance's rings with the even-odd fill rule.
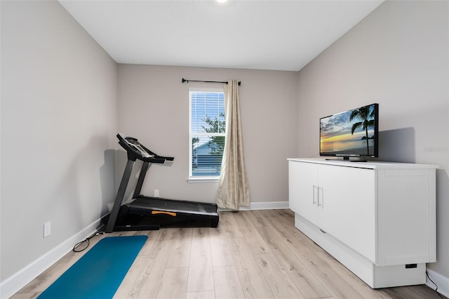
[[[229,81],[229,84],[223,84],[223,89],[225,91],[226,138],[218,182],[217,205],[220,208],[238,210],[240,206],[250,206],[250,192],[243,159],[239,82]]]

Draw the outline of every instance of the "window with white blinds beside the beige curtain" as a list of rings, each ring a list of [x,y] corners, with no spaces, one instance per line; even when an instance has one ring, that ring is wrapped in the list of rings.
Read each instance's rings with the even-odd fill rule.
[[[225,96],[220,89],[189,89],[189,178],[219,178],[225,149]]]

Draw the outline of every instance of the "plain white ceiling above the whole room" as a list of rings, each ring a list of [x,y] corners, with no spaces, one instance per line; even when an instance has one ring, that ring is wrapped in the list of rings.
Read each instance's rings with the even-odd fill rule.
[[[119,63],[297,71],[382,0],[59,0]]]

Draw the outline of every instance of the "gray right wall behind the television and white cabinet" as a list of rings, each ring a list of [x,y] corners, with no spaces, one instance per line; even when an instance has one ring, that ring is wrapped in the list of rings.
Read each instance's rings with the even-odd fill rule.
[[[449,277],[449,2],[385,1],[299,73],[298,156],[319,118],[378,102],[380,158],[437,164],[437,263]]]

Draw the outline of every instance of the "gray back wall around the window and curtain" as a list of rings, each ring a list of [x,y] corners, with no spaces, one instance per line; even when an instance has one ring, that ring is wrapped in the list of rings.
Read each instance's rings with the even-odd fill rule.
[[[175,157],[149,168],[142,194],[215,202],[217,182],[188,183],[189,87],[217,87],[186,79],[241,81],[243,147],[251,202],[287,201],[286,158],[297,152],[297,72],[119,65],[119,130],[150,150]],[[221,86],[220,84],[218,86]],[[118,156],[119,175],[126,164]],[[141,164],[138,164],[137,168]],[[135,178],[130,187],[135,186]],[[128,194],[132,190],[128,190]]]

